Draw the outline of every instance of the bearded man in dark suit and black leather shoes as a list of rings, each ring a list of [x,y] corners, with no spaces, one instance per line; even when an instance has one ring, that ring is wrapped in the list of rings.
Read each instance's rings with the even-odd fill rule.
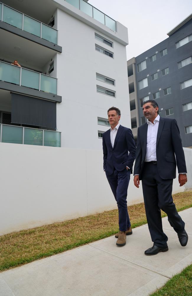
[[[180,244],[187,244],[185,223],[172,198],[176,164],[180,186],[187,182],[187,170],[176,120],[160,117],[158,104],[154,100],[143,103],[143,113],[147,122],[138,128],[134,185],[139,188],[139,180],[142,180],[147,222],[154,242],[153,247],[145,251],[145,255],[156,255],[158,252],[168,251],[168,238],[162,229],[161,210],[167,214]]]

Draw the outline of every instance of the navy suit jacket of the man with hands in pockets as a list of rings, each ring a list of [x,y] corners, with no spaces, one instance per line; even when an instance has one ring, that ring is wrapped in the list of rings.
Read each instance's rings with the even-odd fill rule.
[[[106,174],[113,174],[114,168],[118,171],[124,170],[126,166],[131,169],[132,173],[136,147],[131,129],[120,125],[113,147],[110,140],[110,129],[103,133],[102,138],[103,169]]]

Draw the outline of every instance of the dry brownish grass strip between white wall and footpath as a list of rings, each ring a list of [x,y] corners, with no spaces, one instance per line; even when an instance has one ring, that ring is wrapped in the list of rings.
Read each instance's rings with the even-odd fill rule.
[[[178,210],[192,207],[192,191],[175,194],[173,198]],[[132,228],[147,223],[143,203],[129,206],[128,212]],[[118,210],[112,210],[3,235],[0,271],[109,237],[117,231]]]

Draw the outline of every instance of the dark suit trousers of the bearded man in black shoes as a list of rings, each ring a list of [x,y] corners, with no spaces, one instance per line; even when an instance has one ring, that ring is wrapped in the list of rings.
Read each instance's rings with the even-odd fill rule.
[[[157,247],[166,247],[168,240],[162,229],[161,210],[167,214],[170,225],[177,233],[185,227],[173,203],[172,187],[173,179],[162,179],[157,164],[144,164],[142,188],[145,211],[151,239]]]

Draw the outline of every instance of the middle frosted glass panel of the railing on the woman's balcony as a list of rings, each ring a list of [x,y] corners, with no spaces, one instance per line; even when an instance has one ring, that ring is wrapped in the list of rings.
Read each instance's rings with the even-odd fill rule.
[[[21,85],[39,90],[39,73],[27,69],[21,71]]]

